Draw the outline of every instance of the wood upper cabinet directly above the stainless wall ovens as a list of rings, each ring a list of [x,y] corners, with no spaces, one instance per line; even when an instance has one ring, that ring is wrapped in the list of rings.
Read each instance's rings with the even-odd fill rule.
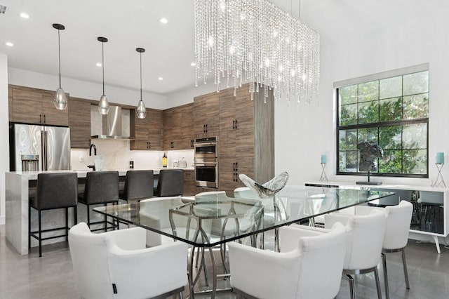
[[[208,93],[194,98],[195,134],[213,136],[220,131],[220,93]]]

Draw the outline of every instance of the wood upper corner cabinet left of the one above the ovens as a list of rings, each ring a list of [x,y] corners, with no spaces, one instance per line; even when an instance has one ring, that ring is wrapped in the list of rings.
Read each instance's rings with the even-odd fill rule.
[[[163,110],[163,150],[190,150],[193,148],[194,104]]]

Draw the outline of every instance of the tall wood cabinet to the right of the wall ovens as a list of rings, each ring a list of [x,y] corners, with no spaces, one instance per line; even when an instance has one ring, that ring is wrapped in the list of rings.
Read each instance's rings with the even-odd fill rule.
[[[248,84],[220,91],[220,134],[218,141],[218,188],[232,195],[242,187],[241,173],[257,182],[274,177],[274,97],[255,93],[251,100]]]

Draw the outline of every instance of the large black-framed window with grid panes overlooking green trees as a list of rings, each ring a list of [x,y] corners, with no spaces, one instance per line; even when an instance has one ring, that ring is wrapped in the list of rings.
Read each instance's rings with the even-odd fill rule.
[[[377,143],[374,175],[428,177],[429,66],[419,65],[334,84],[337,174],[359,170],[363,141]]]

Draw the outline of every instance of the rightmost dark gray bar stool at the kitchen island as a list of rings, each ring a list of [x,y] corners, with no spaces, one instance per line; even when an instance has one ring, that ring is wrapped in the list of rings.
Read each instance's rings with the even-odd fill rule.
[[[161,169],[157,182],[156,197],[177,197],[184,190],[184,173],[182,169]]]

